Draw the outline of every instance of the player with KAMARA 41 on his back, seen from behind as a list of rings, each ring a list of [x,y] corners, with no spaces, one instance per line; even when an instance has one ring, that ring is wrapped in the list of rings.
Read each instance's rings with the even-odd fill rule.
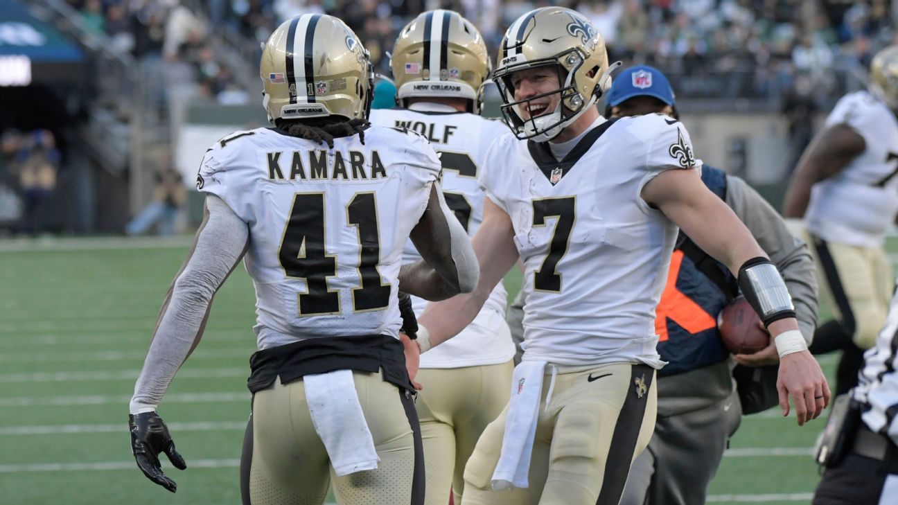
[[[157,405],[197,345],[216,290],[243,259],[256,290],[244,503],[423,503],[413,386],[397,288],[436,299],[474,288],[477,260],[438,188],[424,137],[366,128],[373,72],[335,17],[281,24],[262,51],[275,128],[222,138],[197,187],[206,217],[174,279],[130,403],[137,465],[174,492],[183,469]],[[409,237],[433,270],[401,271]],[[417,351],[417,346],[416,346]]]

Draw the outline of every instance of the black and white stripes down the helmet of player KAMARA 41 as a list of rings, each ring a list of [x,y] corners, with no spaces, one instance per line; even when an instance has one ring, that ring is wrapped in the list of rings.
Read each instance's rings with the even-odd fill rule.
[[[290,103],[315,102],[313,41],[321,14],[303,14],[290,23],[286,37],[286,80],[291,90]]]

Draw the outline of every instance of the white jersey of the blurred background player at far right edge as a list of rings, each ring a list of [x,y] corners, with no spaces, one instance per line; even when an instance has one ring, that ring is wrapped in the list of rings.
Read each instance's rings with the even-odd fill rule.
[[[808,231],[823,240],[878,247],[898,212],[898,120],[867,92],[842,97],[826,127],[847,124],[867,148],[841,173],[814,183],[805,213]]]

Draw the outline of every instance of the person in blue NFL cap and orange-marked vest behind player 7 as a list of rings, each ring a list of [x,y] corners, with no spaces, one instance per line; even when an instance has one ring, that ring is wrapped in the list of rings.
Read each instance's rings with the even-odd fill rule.
[[[661,113],[679,119],[674,90],[652,66],[632,66],[617,75],[608,93],[605,116],[617,118]],[[817,314],[814,262],[807,245],[789,233],[776,210],[742,179],[708,164],[701,181],[733,209],[770,254],[788,286],[798,325],[809,343]],[[656,309],[658,353],[667,364],[658,371],[658,419],[655,433],[629,470],[621,505],[704,503],[727,441],[739,427],[743,405],[749,412],[772,406],[749,404],[751,397],[734,387],[733,363],[718,333],[718,313],[733,299],[736,279],[726,266],[709,258],[689,237],[677,239],[665,291]],[[752,368],[776,365],[773,342],[735,360]],[[776,377],[776,368],[759,373]],[[770,381],[774,382],[774,381]],[[758,385],[761,387],[762,385]],[[775,384],[772,397],[776,398]]]

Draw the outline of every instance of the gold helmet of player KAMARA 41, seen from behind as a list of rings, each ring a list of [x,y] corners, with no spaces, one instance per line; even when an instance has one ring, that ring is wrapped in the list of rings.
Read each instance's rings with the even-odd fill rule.
[[[262,47],[259,66],[269,120],[368,117],[374,70],[346,23],[302,14],[281,23]]]

